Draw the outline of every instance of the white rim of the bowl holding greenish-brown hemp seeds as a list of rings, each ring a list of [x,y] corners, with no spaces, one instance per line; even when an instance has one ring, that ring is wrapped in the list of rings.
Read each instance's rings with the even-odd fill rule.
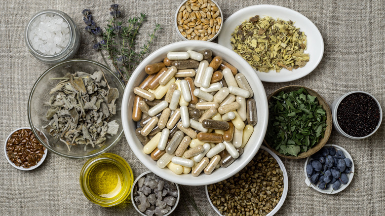
[[[262,145],[261,149],[264,149],[265,151],[269,152],[269,154],[271,154],[271,156],[274,157],[274,159],[279,164],[279,168],[281,168],[281,170],[283,172],[283,192],[282,192],[281,199],[279,200],[278,204],[274,207],[274,209],[271,212],[269,212],[269,214],[266,215],[266,216],[273,216],[273,215],[275,215],[278,212],[278,210],[282,207],[283,203],[285,202],[287,191],[289,190],[289,180],[288,180],[288,177],[287,177],[287,171],[286,171],[285,165],[283,165],[283,162],[278,157],[278,155],[276,155],[274,152],[272,152],[265,145]],[[214,211],[218,215],[222,216],[221,213],[218,211],[218,209],[213,205],[213,203],[210,200],[210,196],[209,196],[208,190],[207,190],[207,185],[204,186],[204,190],[206,191],[206,197],[207,197],[211,207],[214,209]]]

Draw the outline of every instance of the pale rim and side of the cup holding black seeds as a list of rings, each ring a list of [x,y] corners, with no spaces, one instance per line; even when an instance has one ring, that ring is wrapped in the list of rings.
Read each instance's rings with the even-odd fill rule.
[[[353,136],[350,136],[348,134],[345,133],[345,131],[343,131],[340,127],[340,124],[338,123],[338,119],[337,119],[337,110],[338,110],[338,107],[340,106],[341,104],[341,101],[344,100],[348,95],[351,95],[351,94],[354,94],[354,93],[363,93],[363,94],[367,94],[369,95],[370,97],[372,97],[376,103],[377,103],[377,106],[378,108],[380,109],[380,121],[378,122],[378,125],[376,127],[376,129],[374,129],[374,131],[364,137],[353,137]],[[383,110],[381,109],[381,105],[380,103],[378,102],[378,100],[373,97],[373,95],[367,93],[367,92],[364,92],[364,91],[351,91],[351,92],[348,92],[346,93],[345,95],[337,98],[336,100],[333,101],[332,103],[332,106],[331,106],[331,109],[332,109],[332,117],[333,117],[333,125],[334,125],[334,128],[336,128],[337,132],[340,133],[341,135],[347,137],[347,138],[350,138],[350,139],[354,139],[354,140],[360,140],[360,139],[365,139],[365,138],[368,138],[370,136],[372,136],[379,128],[380,128],[380,125],[381,125],[381,122],[383,120]]]

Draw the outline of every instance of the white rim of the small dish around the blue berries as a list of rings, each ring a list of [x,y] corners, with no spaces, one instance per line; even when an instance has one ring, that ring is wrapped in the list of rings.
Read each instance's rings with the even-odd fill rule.
[[[345,150],[345,148],[339,146],[339,145],[335,145],[335,144],[328,144],[328,145],[324,145],[323,147],[330,147],[330,146],[334,146],[335,148],[337,148],[338,150],[341,150],[342,152],[344,152],[345,154],[345,157],[349,158],[351,160],[351,173],[348,175],[348,178],[349,178],[349,181],[347,182],[347,184],[341,184],[340,188],[338,190],[333,190],[332,186],[330,186],[328,189],[326,190],[321,190],[319,189],[316,185],[310,183],[310,179],[308,178],[308,175],[306,173],[306,165],[308,165],[308,163],[312,160],[310,160],[310,157],[311,156],[308,156],[308,158],[306,158],[306,161],[305,161],[305,183],[308,187],[312,187],[314,190],[318,191],[318,192],[321,192],[321,193],[327,193],[327,194],[335,194],[335,193],[339,193],[341,191],[343,191],[351,182],[351,180],[353,179],[353,176],[354,176],[354,162],[353,162],[353,158],[351,158],[349,152],[347,152]],[[321,148],[322,149],[322,148]]]

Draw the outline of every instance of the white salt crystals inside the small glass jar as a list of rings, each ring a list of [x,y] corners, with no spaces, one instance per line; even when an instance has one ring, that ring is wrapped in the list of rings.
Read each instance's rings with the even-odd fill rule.
[[[39,18],[32,23],[29,33],[32,47],[44,55],[60,53],[70,41],[68,23],[57,15],[42,14]]]

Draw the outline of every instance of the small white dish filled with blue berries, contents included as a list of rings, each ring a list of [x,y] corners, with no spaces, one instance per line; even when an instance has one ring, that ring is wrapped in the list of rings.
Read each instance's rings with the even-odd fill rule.
[[[305,162],[306,184],[321,193],[341,192],[350,184],[353,175],[353,159],[343,147],[335,144],[325,145]]]

